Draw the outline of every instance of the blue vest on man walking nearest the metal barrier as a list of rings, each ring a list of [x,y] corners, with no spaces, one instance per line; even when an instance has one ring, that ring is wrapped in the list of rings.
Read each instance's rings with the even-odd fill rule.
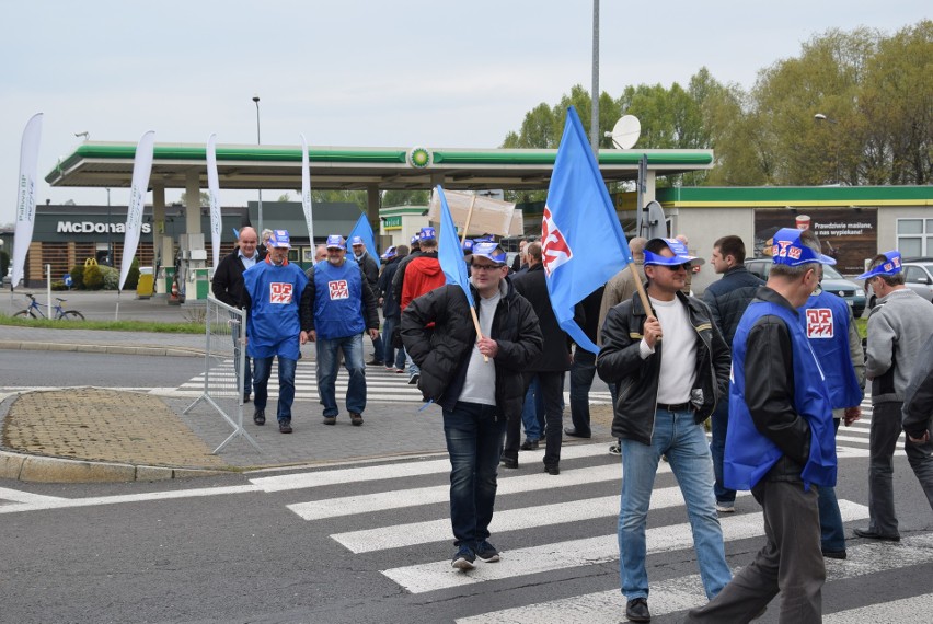
[[[304,273],[291,263],[275,266],[266,259],[243,271],[243,286],[252,300],[246,331],[250,357],[298,359],[301,333],[298,305],[307,284]]]

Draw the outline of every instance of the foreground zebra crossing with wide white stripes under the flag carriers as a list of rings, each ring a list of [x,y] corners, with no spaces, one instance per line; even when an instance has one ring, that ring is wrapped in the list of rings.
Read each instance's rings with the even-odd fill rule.
[[[502,561],[480,563],[469,573],[450,565],[453,547],[446,459],[256,476],[250,481],[264,492],[292,490],[292,498],[298,500],[286,505],[291,512],[318,523],[349,558],[348,565],[362,565],[353,563],[355,558],[367,562],[403,596],[423,596],[421,600],[430,603],[471,597],[473,600],[463,601],[461,612],[454,614],[458,623],[619,622],[624,609],[614,571],[618,568],[613,565],[619,559],[614,532],[619,460],[608,455],[601,443],[566,447],[561,474],[555,477],[540,472],[542,459],[541,450],[522,452],[522,467],[499,471],[496,515],[489,530],[491,541],[502,551]],[[843,521],[850,525],[868,518],[867,507],[859,501],[841,496],[839,505]],[[649,576],[661,562],[693,558],[683,498],[666,463],[659,465],[650,508],[646,532]],[[739,553],[730,557],[733,566],[748,563],[763,540],[763,518],[748,493],[739,493],[737,509],[737,513],[721,518],[727,552]],[[933,569],[933,532],[905,536],[899,544],[856,541],[849,546],[848,559],[827,559],[825,594],[838,581],[913,566],[920,566],[918,574],[929,575]],[[531,589],[514,591],[542,582],[560,583],[569,577],[599,578],[601,589],[553,600],[546,593],[542,599]],[[497,597],[495,601],[475,600],[493,594]],[[503,597],[514,603],[504,604]],[[898,609],[907,615],[895,621],[928,621],[909,614],[920,612],[924,604],[929,606],[929,599],[930,594],[923,593],[901,600]],[[704,602],[699,575],[652,582],[650,603],[656,617]],[[493,603],[494,608],[486,606]],[[886,605],[889,614],[890,604]],[[885,621],[877,619],[873,608],[868,604],[829,613],[826,621]]]

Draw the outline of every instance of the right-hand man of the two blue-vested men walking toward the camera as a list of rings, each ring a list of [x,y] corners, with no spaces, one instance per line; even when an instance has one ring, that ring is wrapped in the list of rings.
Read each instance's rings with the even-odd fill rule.
[[[346,404],[354,427],[362,425],[366,408],[366,365],[362,362],[362,333],[373,340],[379,335],[376,296],[355,262],[347,262],[343,236],[327,236],[327,262],[306,273],[308,288],[301,299],[301,339],[316,344],[318,393],[324,405],[324,425],[337,423],[336,380],[343,351],[349,373]]]

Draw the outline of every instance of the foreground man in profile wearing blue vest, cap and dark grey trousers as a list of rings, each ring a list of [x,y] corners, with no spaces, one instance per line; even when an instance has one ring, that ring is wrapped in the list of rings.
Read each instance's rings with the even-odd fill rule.
[[[719,594],[686,622],[749,622],[781,592],[781,615],[822,620],[826,566],[820,552],[817,487],[836,485],[836,438],[825,375],[797,308],[819,284],[820,253],[810,230],[774,234],[768,282],[749,304],[733,340],[726,487],[751,489],[767,542]],[[782,619],[782,621],[784,621]]]

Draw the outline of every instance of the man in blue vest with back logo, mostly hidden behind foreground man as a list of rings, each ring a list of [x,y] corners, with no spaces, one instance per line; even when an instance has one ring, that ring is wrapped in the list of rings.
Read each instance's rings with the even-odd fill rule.
[[[820,265],[822,278],[822,265]],[[848,427],[862,415],[865,385],[865,355],[862,337],[855,327],[852,309],[843,299],[817,289],[800,308],[800,323],[814,353],[826,374],[826,385],[832,401],[832,427],[839,430],[840,419]],[[845,532],[834,487],[819,488],[819,524],[822,555],[844,559]]]

